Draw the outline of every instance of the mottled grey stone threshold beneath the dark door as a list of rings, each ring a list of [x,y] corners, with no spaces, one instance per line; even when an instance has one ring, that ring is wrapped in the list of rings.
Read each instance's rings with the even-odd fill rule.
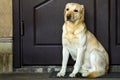
[[[60,71],[61,66],[24,66],[22,68],[14,69],[14,72],[20,73],[51,73],[53,71]],[[67,71],[71,72],[72,66],[67,67]],[[112,65],[109,69],[110,72],[120,72],[120,65]]]

